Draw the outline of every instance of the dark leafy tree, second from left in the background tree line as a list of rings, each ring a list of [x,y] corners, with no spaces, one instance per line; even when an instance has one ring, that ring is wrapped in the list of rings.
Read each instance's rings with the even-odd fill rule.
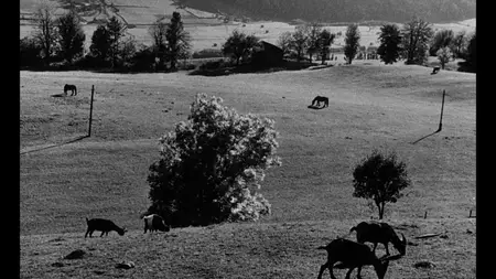
[[[72,63],[85,51],[86,35],[83,25],[79,23],[76,12],[71,11],[58,18],[57,28],[62,56],[67,63]]]

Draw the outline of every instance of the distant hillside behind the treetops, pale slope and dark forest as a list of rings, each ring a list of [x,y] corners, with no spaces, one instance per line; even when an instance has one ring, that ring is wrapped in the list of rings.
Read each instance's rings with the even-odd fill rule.
[[[397,22],[420,15],[431,23],[475,18],[475,0],[53,0],[76,8],[88,23],[118,15],[132,24],[149,24],[155,15],[180,11],[186,23],[222,23],[222,19],[295,20],[326,23]],[[33,12],[34,0],[21,0],[21,19]],[[62,11],[62,10],[61,10]]]

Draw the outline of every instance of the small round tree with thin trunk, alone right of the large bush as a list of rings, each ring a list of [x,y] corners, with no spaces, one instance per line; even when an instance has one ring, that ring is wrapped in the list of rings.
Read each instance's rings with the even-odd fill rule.
[[[384,217],[386,203],[396,203],[402,196],[401,190],[411,184],[406,164],[391,153],[384,155],[375,150],[353,172],[353,196],[371,198],[379,211],[379,219]]]

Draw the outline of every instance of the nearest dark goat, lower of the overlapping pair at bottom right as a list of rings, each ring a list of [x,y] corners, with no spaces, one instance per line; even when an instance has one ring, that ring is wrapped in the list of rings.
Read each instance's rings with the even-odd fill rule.
[[[322,278],[322,273],[325,269],[328,269],[332,279],[336,279],[333,272],[334,268],[348,268],[345,277],[346,279],[349,279],[352,271],[355,268],[358,268],[357,278],[362,278],[360,271],[364,266],[374,266],[377,277],[384,279],[389,260],[393,258],[379,259],[367,245],[344,238],[334,239],[327,246],[321,246],[317,249],[327,251],[327,261],[321,266],[317,279]],[[398,257],[396,257],[396,259],[398,259]],[[336,262],[341,264],[334,266]]]

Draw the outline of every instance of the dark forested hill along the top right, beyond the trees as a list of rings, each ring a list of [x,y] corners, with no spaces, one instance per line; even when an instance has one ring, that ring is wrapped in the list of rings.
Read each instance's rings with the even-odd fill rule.
[[[208,12],[252,20],[407,22],[414,15],[431,23],[475,18],[476,0],[175,0]]]

